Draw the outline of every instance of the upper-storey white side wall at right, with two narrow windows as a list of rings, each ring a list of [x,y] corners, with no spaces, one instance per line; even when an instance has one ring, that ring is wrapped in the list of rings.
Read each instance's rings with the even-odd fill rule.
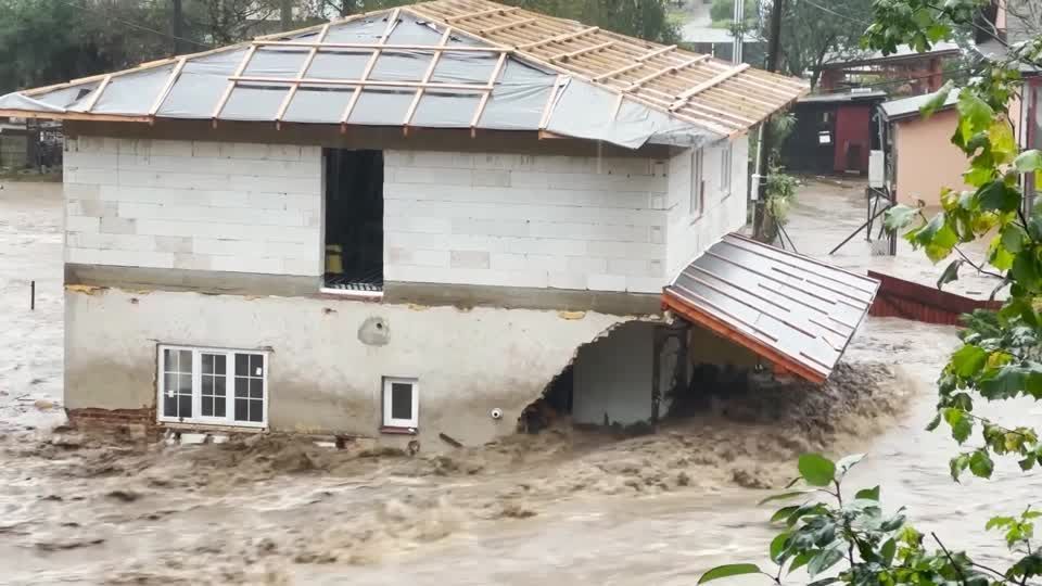
[[[749,138],[738,137],[730,144],[730,191],[726,191],[721,181],[724,145],[704,149],[702,178],[706,180],[706,199],[701,215],[690,214],[691,151],[682,151],[670,158],[666,228],[666,275],[670,281],[724,234],[746,225]]]

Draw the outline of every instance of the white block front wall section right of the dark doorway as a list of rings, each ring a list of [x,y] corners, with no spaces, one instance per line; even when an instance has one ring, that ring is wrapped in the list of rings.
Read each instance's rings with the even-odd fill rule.
[[[664,161],[389,151],[384,278],[658,292]]]

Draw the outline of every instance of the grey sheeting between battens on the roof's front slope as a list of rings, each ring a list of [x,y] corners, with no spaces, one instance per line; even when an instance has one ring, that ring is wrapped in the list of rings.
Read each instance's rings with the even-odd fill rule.
[[[334,23],[325,42],[376,43],[387,27],[386,15]],[[280,40],[317,42],[310,31]],[[417,17],[402,13],[386,39],[389,44],[439,44],[443,30]],[[449,46],[488,47],[466,37],[449,38]],[[244,47],[232,47],[200,56],[189,56],[170,91],[162,101],[158,117],[211,119],[221,95],[230,85],[245,55]],[[218,119],[271,122],[290,92],[289,81],[297,78],[309,48],[257,46],[243,76],[284,81],[239,81],[220,111]],[[318,51],[304,73],[312,79],[359,79],[372,51],[363,48],[325,48]],[[430,67],[430,50],[384,50],[377,59],[369,79],[390,82],[418,82]],[[499,53],[444,52],[435,66],[434,84],[484,86],[496,71]],[[142,67],[113,75],[100,98],[93,94],[103,86],[98,78],[42,92],[27,98],[18,93],[0,98],[0,109],[48,113],[68,112],[148,116],[175,69],[174,63]],[[541,130],[557,72],[528,63],[517,55],[507,59],[494,89],[478,120],[478,129]],[[701,145],[723,138],[706,128],[678,122],[663,112],[633,101],[623,102],[614,116],[618,94],[574,78],[566,80],[557,95],[546,130],[568,137],[602,140],[636,149],[648,141],[683,146]],[[282,116],[285,122],[340,124],[355,86],[302,85]],[[481,103],[482,91],[474,89],[428,88],[417,104],[409,124],[433,128],[470,128]],[[355,103],[347,124],[402,126],[416,98],[409,87],[366,87]]]

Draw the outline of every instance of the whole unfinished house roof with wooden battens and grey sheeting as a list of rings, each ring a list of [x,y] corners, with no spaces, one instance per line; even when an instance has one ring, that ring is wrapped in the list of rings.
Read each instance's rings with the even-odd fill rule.
[[[805,91],[483,0],[441,0],[0,97],[0,115],[531,130],[638,148],[745,131]]]

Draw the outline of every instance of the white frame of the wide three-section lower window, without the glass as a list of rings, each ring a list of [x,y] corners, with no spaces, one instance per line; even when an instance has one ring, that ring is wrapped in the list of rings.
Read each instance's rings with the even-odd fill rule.
[[[156,420],[161,423],[191,423],[200,425],[223,425],[232,428],[267,428],[268,426],[268,406],[270,397],[268,394],[268,370],[269,354],[268,351],[246,349],[246,348],[215,348],[205,346],[182,346],[176,344],[160,344],[158,356],[156,359]],[[187,351],[192,353],[192,417],[167,416],[166,402],[166,352],[165,351]],[[216,354],[225,356],[225,416],[224,417],[204,417],[202,415],[203,397],[203,355]],[[236,419],[236,355],[250,354],[260,356],[263,360],[263,397],[260,421],[239,421]],[[250,375],[250,374],[246,374]],[[252,377],[252,375],[251,375]]]

